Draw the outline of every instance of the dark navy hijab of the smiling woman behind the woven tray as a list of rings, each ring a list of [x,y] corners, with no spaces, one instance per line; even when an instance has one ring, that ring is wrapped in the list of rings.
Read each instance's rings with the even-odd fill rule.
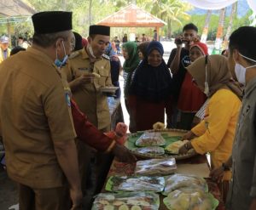
[[[137,67],[134,79],[131,82],[130,94],[156,103],[171,96],[172,77],[165,60],[162,60],[157,67],[148,64],[148,55],[154,49],[163,56],[164,48],[161,43],[157,41],[149,43],[147,56]]]

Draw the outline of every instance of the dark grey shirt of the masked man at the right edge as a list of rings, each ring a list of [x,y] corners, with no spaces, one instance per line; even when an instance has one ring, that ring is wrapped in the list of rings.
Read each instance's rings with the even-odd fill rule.
[[[233,180],[230,183],[228,207],[249,209],[256,197],[256,78],[247,84],[242,101],[236,139],[232,152]]]

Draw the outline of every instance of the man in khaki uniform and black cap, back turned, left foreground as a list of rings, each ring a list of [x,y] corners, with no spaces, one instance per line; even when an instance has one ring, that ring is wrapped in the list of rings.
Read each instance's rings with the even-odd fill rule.
[[[72,13],[32,16],[32,48],[0,65],[0,133],[20,210],[66,210],[82,198],[70,89],[61,77],[71,52]]]

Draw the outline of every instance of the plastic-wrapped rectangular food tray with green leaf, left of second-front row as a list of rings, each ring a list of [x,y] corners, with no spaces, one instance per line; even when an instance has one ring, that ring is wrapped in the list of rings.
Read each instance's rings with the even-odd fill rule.
[[[108,179],[108,191],[154,191],[161,192],[165,187],[163,177],[112,176]]]

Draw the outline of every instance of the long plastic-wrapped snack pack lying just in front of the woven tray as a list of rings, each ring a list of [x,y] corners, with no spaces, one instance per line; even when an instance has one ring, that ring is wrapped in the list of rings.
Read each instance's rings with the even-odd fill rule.
[[[169,175],[177,169],[173,157],[161,159],[149,159],[136,163],[135,173],[137,175]]]

